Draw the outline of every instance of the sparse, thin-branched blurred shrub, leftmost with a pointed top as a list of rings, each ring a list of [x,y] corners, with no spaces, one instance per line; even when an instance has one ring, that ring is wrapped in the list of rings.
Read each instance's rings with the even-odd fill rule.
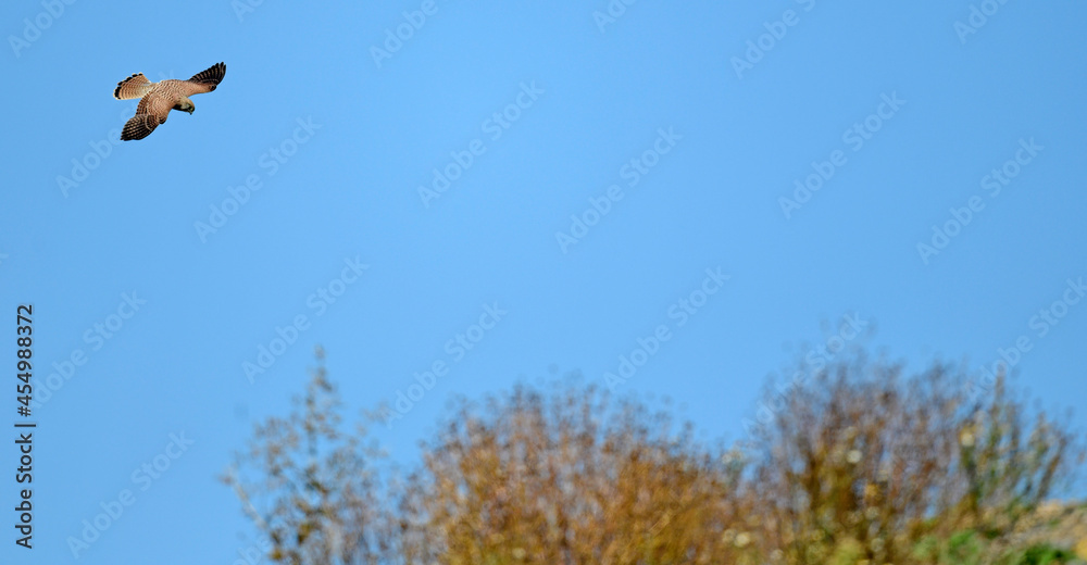
[[[291,414],[258,425],[249,450],[236,454],[221,479],[271,541],[273,562],[388,563],[397,538],[375,466],[384,453],[364,443],[365,428],[339,429],[339,397],[326,378],[320,348],[316,356],[321,364],[305,395],[293,400]]]

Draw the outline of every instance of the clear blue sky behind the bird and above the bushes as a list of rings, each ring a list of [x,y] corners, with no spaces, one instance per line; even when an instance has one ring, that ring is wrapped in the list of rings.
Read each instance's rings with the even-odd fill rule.
[[[400,461],[451,394],[624,355],[619,390],[736,439],[847,316],[1084,407],[1080,2],[251,1],[0,8],[0,351],[33,304],[37,385],[0,422],[38,425],[34,550],[8,527],[0,562],[241,558],[214,477],[315,344],[352,409],[417,398]],[[220,61],[115,139],[118,80]]]

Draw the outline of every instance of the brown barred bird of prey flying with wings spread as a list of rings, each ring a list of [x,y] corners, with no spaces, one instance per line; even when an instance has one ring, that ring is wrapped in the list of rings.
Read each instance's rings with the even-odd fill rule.
[[[136,106],[136,115],[128,120],[121,130],[121,139],[129,141],[151,135],[155,127],[166,123],[166,115],[171,110],[180,110],[191,115],[196,106],[189,97],[215,90],[224,76],[226,76],[226,64],[216,63],[192,75],[188,80],[171,78],[152,83],[143,76],[143,73],[136,73],[117,83],[113,98],[140,99],[139,105]]]

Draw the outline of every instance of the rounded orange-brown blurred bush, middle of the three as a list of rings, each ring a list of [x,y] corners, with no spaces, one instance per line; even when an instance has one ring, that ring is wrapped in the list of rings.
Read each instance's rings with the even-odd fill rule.
[[[739,468],[664,412],[522,386],[462,400],[439,429],[408,481],[412,563],[754,563]]]

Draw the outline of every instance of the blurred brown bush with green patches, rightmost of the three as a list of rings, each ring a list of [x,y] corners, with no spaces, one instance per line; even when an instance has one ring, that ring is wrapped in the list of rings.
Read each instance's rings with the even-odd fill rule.
[[[1066,426],[1040,411],[1027,425],[1003,375],[972,400],[952,366],[905,382],[902,371],[857,354],[801,364],[798,386],[767,389],[763,405],[777,410],[753,430],[752,487],[785,563],[858,551],[858,563],[941,563],[917,551],[925,539],[950,540],[953,562],[970,563],[969,531],[1010,532],[1083,462]]]

